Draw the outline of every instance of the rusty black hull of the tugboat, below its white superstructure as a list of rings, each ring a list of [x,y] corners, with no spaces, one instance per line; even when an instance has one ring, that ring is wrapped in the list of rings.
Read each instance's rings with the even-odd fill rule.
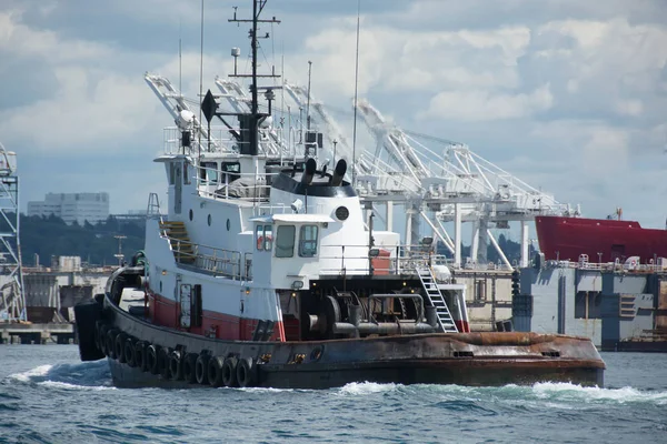
[[[129,364],[109,350],[113,383],[120,387],[197,387],[237,386],[231,383],[188,383],[183,374],[186,357],[206,356],[208,361],[241,361],[252,377],[242,386],[328,389],[352,382],[398,384],[505,385],[536,382],[569,382],[603,386],[605,364],[588,339],[536,333],[432,333],[382,337],[310,342],[250,342],[208,339],[146,322],[118,307],[109,297],[103,301],[96,323],[122,341],[160,349],[170,359],[158,360],[151,372]],[[81,326],[90,325],[77,321]],[[80,329],[82,335],[97,334]],[[82,341],[90,347],[91,341]],[[94,345],[93,345],[94,346]],[[99,359],[103,346],[84,354]],[[122,349],[122,347],[121,347]],[[180,356],[180,357],[179,357]],[[183,364],[185,365],[185,364]],[[205,364],[210,366],[209,364]],[[219,372],[222,372],[222,365]],[[221,373],[220,373],[221,374]],[[235,373],[236,374],[236,373]]]

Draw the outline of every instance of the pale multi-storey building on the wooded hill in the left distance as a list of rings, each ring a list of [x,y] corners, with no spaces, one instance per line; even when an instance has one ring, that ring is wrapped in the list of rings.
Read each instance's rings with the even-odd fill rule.
[[[48,193],[43,201],[28,202],[28,215],[61,218],[68,225],[74,221],[98,223],[109,218],[109,193]]]

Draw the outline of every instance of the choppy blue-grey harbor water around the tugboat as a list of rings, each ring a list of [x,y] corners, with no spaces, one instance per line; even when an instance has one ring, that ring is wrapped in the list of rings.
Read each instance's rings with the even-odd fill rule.
[[[120,390],[76,346],[0,345],[0,443],[667,443],[667,354],[603,354],[606,386]]]

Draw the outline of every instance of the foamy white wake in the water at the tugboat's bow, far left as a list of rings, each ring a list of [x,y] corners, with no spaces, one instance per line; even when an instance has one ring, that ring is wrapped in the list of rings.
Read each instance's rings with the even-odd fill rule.
[[[107,361],[82,364],[46,364],[27,372],[14,373],[7,380],[23,384],[69,390],[112,390]]]

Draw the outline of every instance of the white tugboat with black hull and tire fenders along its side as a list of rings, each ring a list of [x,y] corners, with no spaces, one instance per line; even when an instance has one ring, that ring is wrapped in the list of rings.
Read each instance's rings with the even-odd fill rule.
[[[180,113],[178,150],[156,159],[167,211],[150,194],[145,250],[76,307],[81,360],[107,357],[123,387],[603,385],[588,339],[471,333],[465,285],[429,246],[365,223],[344,159],[328,171],[309,150],[266,149],[275,95],[263,89],[259,112],[257,39],[275,19],[259,19],[265,4],[230,20],[252,27],[250,112],[219,113],[210,91],[201,104],[209,125],[238,119],[235,149],[198,142],[200,122]]]

